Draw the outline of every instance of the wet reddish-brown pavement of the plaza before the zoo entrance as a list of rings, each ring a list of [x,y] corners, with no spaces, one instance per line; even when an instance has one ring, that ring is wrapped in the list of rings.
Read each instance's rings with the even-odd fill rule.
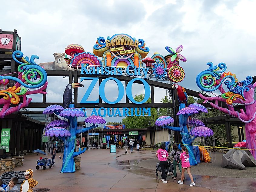
[[[161,182],[161,174],[155,175],[155,164],[152,168],[141,167],[140,164],[148,159],[156,159],[155,152],[135,151],[133,154],[124,154],[124,150],[118,149],[117,154],[111,154],[109,150],[85,151],[81,155],[81,170],[75,173],[60,173],[62,160],[56,155],[55,167],[46,170],[36,170],[36,160],[41,156],[26,155],[24,166],[15,167],[15,171],[25,171],[32,168],[34,179],[39,184],[35,188],[49,188],[50,191],[256,191],[256,178],[232,178],[194,175],[196,186],[190,187],[188,175],[184,185],[172,180],[169,176],[168,183]],[[207,175],[207,171],[202,170]],[[3,172],[0,172],[2,174]],[[180,178],[180,174],[178,173]]]

